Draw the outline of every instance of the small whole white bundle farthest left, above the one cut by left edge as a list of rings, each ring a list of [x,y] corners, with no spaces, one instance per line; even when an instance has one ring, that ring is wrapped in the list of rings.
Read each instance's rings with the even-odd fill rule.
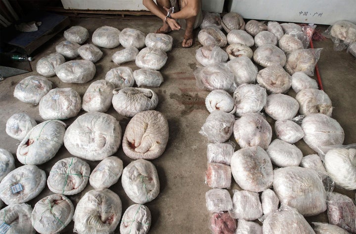
[[[22,141],[36,125],[37,122],[33,117],[25,113],[17,113],[7,119],[5,131],[10,137]]]

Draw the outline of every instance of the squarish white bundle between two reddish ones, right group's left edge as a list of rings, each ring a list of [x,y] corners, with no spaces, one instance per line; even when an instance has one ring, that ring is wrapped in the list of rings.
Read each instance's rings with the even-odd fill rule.
[[[205,193],[206,206],[209,212],[223,212],[232,209],[232,199],[225,189],[211,189]]]

